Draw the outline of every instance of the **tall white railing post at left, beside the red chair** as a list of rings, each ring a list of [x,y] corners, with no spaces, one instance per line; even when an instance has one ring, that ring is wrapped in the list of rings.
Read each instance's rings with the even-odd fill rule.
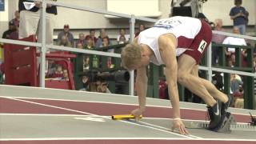
[[[45,69],[46,69],[46,0],[42,1],[42,10],[40,16],[40,26],[42,26],[42,48],[40,58],[40,86],[45,87]]]

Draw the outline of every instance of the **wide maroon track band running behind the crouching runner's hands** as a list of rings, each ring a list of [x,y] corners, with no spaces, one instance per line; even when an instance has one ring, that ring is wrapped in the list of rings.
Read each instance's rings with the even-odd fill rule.
[[[0,113],[22,113],[22,114],[81,114],[70,110],[60,110],[57,108],[40,106],[28,102],[19,102],[7,98],[0,98]],[[79,110],[91,114],[98,115],[114,115],[114,114],[130,114],[131,110],[137,106],[100,103],[100,102],[70,102],[58,100],[38,100],[38,99],[23,99],[30,102],[38,102],[50,106],[59,106],[71,110]],[[147,106],[144,117],[152,118],[172,118],[171,108]],[[181,110],[182,118],[193,120],[205,120],[206,111],[201,110]],[[237,122],[250,122],[249,115],[234,114]]]

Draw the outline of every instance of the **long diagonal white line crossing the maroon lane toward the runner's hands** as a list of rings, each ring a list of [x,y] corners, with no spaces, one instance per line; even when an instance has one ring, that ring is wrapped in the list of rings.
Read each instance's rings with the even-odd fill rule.
[[[91,114],[91,113],[86,113],[86,112],[80,111],[80,110],[72,110],[72,109],[67,109],[67,108],[64,108],[64,107],[51,106],[51,105],[46,105],[46,104],[42,104],[42,103],[38,103],[38,102],[30,102],[30,101],[26,101],[26,100],[22,100],[22,99],[16,99],[16,98],[9,98],[9,99],[16,100],[16,101],[20,101],[20,102],[33,103],[33,104],[40,105],[40,106],[53,107],[53,108],[61,109],[61,110],[69,110],[69,111],[73,111],[73,112],[77,112],[77,113],[81,113],[81,114]],[[102,117],[102,116],[97,115],[97,114],[91,114],[91,115],[98,116],[98,117],[101,117],[101,118],[105,118],[105,117]],[[107,118],[107,119],[111,119],[111,118]],[[121,121],[121,122],[126,122],[126,121]],[[136,126],[143,126],[143,125],[136,124],[136,123],[134,123],[134,122],[126,122],[126,123],[130,123],[130,124],[136,125]],[[190,139],[192,138],[192,137],[189,137],[189,136],[186,136],[186,135],[176,134],[176,133],[173,133],[173,132],[170,132],[170,131],[167,131],[167,130],[161,130],[161,129],[154,128],[154,127],[150,127],[150,126],[143,126],[143,127],[147,127],[147,128],[153,129],[153,130],[159,130],[159,131],[162,131],[162,132],[166,132],[166,133],[178,135],[178,136],[184,137],[184,138],[190,138]]]

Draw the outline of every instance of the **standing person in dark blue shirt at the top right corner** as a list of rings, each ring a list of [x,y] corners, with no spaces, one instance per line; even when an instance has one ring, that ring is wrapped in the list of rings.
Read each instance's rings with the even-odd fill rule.
[[[234,0],[234,5],[230,10],[230,18],[233,20],[234,27],[238,27],[240,34],[246,34],[249,13],[242,7],[242,0]]]

